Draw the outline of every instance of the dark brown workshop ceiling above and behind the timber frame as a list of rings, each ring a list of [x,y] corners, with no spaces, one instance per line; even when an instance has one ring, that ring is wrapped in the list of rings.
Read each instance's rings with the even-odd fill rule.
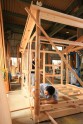
[[[83,0],[38,0],[42,7],[83,18]],[[11,44],[11,56],[16,56],[15,46],[20,44],[26,23],[25,7],[30,7],[32,0],[2,0],[5,41]],[[37,0],[33,0],[36,4]],[[42,20],[42,27],[50,37],[76,40],[78,29],[59,23]],[[80,29],[81,30],[81,29]]]

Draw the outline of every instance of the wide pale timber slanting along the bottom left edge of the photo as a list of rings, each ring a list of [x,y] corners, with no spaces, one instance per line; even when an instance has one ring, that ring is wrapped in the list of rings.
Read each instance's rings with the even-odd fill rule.
[[[12,124],[2,73],[0,71],[0,124]]]

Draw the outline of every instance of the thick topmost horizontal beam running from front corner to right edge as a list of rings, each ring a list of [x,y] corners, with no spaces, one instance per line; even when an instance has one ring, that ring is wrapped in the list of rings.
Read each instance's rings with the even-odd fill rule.
[[[40,18],[52,22],[83,28],[83,19],[71,15],[63,14],[43,7],[31,6],[32,9],[40,11]]]

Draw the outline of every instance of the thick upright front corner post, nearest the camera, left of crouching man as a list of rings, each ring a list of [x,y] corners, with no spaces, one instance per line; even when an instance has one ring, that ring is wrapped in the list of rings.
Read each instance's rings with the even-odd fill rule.
[[[37,12],[37,21],[39,20],[39,11]],[[36,43],[35,43],[35,106],[34,116],[35,123],[39,121],[40,113],[40,40],[39,40],[39,28],[36,26]]]

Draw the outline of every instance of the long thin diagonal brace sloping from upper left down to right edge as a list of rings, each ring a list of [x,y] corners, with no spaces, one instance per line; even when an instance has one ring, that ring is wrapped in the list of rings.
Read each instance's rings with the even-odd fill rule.
[[[68,62],[66,61],[66,59],[64,58],[63,54],[57,49],[57,47],[55,46],[55,44],[51,41],[50,37],[47,35],[47,33],[44,31],[44,29],[41,27],[41,25],[37,22],[37,20],[35,19],[35,17],[33,16],[33,14],[30,12],[30,10],[28,8],[26,8],[26,11],[31,15],[31,17],[33,18],[33,20],[35,21],[36,25],[39,27],[39,29],[43,32],[43,34],[46,36],[46,38],[48,39],[48,41],[50,42],[50,44],[55,48],[56,52],[59,54],[59,56],[62,58],[62,60],[65,62],[65,64],[67,65],[67,67],[70,69],[70,71],[74,74],[74,76],[76,77],[76,79],[79,81],[79,83],[83,86],[83,81],[78,77],[78,75],[74,72],[74,70],[71,68],[71,66],[68,64]]]

